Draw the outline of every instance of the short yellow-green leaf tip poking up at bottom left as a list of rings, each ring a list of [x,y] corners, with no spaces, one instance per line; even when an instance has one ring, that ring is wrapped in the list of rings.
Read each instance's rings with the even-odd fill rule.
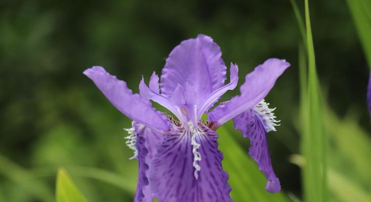
[[[87,202],[64,169],[58,170],[56,199],[57,202]]]

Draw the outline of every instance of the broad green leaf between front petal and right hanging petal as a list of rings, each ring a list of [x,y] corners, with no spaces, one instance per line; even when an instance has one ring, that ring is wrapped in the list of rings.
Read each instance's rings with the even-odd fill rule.
[[[247,154],[248,148],[242,149],[232,135],[240,135],[227,122],[218,129],[219,149],[223,151],[223,169],[229,174],[228,183],[232,187],[231,197],[234,201],[288,201],[282,192],[268,193],[265,190],[267,179],[258,170],[258,165]],[[246,141],[248,141],[246,139]]]

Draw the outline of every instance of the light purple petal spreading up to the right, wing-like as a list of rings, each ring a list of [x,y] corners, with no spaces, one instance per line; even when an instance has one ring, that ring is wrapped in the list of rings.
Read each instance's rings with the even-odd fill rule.
[[[245,82],[240,87],[241,95],[233,97],[225,105],[216,107],[209,113],[209,120],[216,122],[219,127],[238,114],[258,104],[273,87],[277,78],[290,64],[285,60],[268,59],[257,66],[253,72],[245,77]]]

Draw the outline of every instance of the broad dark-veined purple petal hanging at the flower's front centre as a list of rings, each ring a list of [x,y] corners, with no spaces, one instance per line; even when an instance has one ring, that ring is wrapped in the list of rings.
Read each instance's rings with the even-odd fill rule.
[[[194,136],[184,126],[173,127],[158,149],[150,172],[150,186],[160,201],[232,201],[228,174],[223,171],[223,155],[218,150],[218,135],[205,126]],[[199,144],[197,151],[192,146]],[[193,150],[192,150],[193,149]],[[200,166],[195,172],[194,154]],[[197,173],[197,179],[195,176]]]

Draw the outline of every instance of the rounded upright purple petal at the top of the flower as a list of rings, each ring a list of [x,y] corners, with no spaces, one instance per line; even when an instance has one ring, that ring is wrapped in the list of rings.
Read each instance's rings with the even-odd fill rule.
[[[221,55],[220,47],[210,36],[200,34],[182,41],[162,69],[161,93],[171,97],[178,84],[185,89],[188,83],[194,87],[195,102],[199,103],[224,84],[226,67]]]

